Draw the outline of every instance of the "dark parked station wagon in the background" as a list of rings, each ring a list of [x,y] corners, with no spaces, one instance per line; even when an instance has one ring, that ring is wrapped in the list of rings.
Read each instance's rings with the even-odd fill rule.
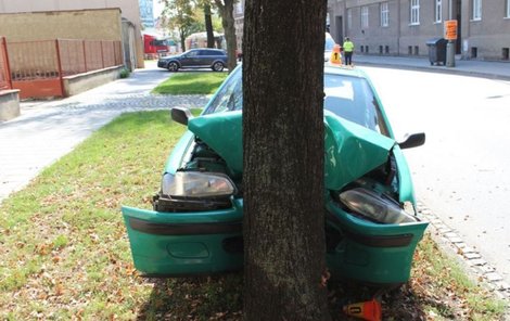
[[[227,53],[221,49],[191,49],[178,55],[165,56],[157,61],[160,68],[177,72],[180,68],[212,68],[221,72],[227,65]]]

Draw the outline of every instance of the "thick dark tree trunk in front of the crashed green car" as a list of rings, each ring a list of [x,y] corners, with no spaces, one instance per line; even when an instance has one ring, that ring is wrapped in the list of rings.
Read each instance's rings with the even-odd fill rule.
[[[324,236],[327,1],[246,1],[244,319],[329,320]]]

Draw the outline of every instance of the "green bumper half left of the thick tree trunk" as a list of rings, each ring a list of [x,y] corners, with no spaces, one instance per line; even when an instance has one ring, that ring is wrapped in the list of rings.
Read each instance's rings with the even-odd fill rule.
[[[225,210],[158,213],[122,208],[137,270],[179,277],[243,267],[242,200]]]

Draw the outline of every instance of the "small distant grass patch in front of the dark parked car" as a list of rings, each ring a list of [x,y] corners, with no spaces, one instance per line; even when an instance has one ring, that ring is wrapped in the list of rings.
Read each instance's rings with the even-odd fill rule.
[[[221,85],[227,73],[178,73],[152,90],[160,94],[211,94]]]

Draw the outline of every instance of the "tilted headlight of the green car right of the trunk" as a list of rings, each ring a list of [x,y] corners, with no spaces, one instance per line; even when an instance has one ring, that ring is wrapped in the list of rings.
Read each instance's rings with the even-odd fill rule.
[[[355,214],[377,222],[398,224],[418,220],[401,209],[396,202],[367,189],[358,188],[342,192],[340,200]]]

